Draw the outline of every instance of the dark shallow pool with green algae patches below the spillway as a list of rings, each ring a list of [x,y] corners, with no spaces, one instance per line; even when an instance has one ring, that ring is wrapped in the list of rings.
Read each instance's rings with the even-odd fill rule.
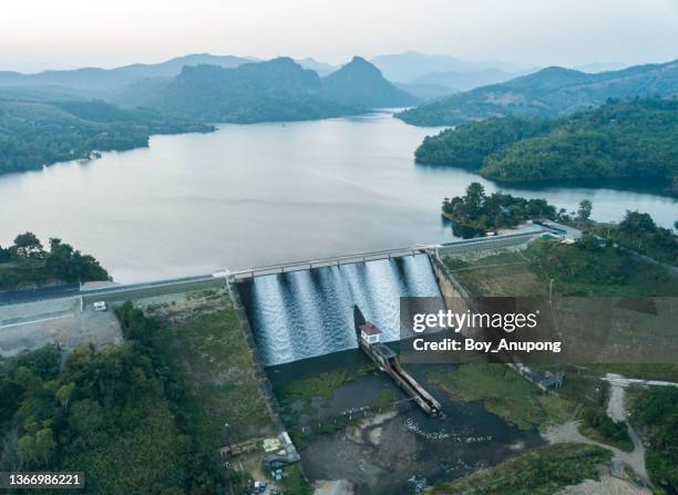
[[[360,350],[271,367],[267,373],[311,481],[346,479],[356,494],[407,494],[543,443],[534,430],[507,424],[477,401],[454,401],[430,380],[450,370],[408,367],[443,404],[443,419],[431,419],[408,401]]]

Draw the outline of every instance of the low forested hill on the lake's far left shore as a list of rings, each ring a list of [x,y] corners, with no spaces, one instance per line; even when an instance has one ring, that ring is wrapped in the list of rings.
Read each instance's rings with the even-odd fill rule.
[[[146,146],[152,134],[212,130],[193,118],[101,101],[0,100],[0,174],[88,158],[95,151]]]

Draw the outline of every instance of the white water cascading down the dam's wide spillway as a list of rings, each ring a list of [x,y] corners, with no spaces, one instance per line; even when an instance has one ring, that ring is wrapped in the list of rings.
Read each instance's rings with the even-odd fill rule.
[[[400,337],[401,297],[441,297],[428,256],[268,275],[249,282],[247,312],[267,365],[356,348],[353,305]]]

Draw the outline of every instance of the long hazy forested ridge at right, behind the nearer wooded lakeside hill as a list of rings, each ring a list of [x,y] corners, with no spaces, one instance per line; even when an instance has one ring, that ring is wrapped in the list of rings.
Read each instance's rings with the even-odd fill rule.
[[[413,125],[459,125],[490,117],[557,117],[609,97],[678,95],[678,60],[589,74],[547,68],[502,84],[456,93],[398,114]]]

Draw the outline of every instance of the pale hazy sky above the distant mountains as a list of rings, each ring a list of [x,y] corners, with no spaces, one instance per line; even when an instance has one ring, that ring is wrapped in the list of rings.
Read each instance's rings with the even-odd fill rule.
[[[532,65],[678,58],[678,0],[21,0],[0,9],[0,69],[176,55],[421,51]]]

